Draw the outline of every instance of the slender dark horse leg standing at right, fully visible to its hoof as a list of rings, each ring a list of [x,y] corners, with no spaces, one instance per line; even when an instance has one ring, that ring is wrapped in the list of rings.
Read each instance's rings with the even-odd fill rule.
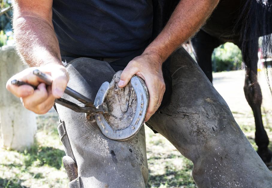
[[[269,139],[262,122],[262,92],[260,85],[257,81],[258,40],[254,41],[253,43],[254,45],[252,46],[254,47],[250,50],[247,49],[246,52],[248,53],[242,54],[246,65],[244,93],[247,102],[253,111],[255,119],[255,142],[258,146],[257,153],[268,165],[268,163],[270,163],[272,159],[272,152],[268,149]]]

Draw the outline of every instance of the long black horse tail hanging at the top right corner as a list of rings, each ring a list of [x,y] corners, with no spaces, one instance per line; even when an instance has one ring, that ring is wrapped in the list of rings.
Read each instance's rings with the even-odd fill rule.
[[[261,45],[263,59],[272,58],[272,0],[245,0],[241,14],[236,24],[236,30],[240,32],[240,46],[242,53],[248,54],[254,49],[252,41],[258,40]],[[266,77],[268,85],[271,84],[272,71],[268,71],[271,67],[271,62],[265,62]],[[256,62],[257,63],[257,62]],[[272,94],[272,90],[271,90]]]

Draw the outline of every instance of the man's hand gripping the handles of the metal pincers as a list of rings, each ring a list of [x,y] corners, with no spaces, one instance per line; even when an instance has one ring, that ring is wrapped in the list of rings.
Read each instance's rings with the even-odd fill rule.
[[[46,86],[40,78],[32,73],[34,69],[46,72],[53,78],[52,86]],[[28,85],[15,86],[12,80],[27,82],[37,86],[37,90]],[[69,74],[65,67],[60,64],[48,63],[40,67],[31,67],[19,72],[7,81],[6,88],[13,95],[20,97],[24,107],[37,114],[48,112],[55,103],[56,98],[60,98],[69,81]]]

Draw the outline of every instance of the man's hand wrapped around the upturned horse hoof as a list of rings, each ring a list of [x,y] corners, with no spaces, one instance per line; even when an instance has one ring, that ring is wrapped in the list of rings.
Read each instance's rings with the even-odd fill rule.
[[[158,55],[143,53],[129,62],[123,70],[119,87],[125,87],[133,75],[140,76],[146,83],[149,92],[149,104],[145,122],[158,110],[165,91],[162,76],[162,60]]]

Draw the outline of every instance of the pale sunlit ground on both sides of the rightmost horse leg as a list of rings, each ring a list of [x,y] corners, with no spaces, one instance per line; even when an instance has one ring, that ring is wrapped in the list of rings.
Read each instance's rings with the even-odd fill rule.
[[[254,129],[255,123],[253,112],[244,96],[245,71],[239,70],[230,72],[218,72],[214,73],[213,77],[213,85],[215,89],[220,93],[220,95],[223,96],[229,105],[229,108],[232,111],[236,122],[244,131],[245,135],[250,137],[250,139],[253,139],[254,130],[248,130]],[[270,136],[270,140],[272,140],[272,95],[268,86],[264,69],[258,73],[258,82],[261,86],[263,98],[261,107],[263,124],[266,131],[268,132],[268,135]]]

